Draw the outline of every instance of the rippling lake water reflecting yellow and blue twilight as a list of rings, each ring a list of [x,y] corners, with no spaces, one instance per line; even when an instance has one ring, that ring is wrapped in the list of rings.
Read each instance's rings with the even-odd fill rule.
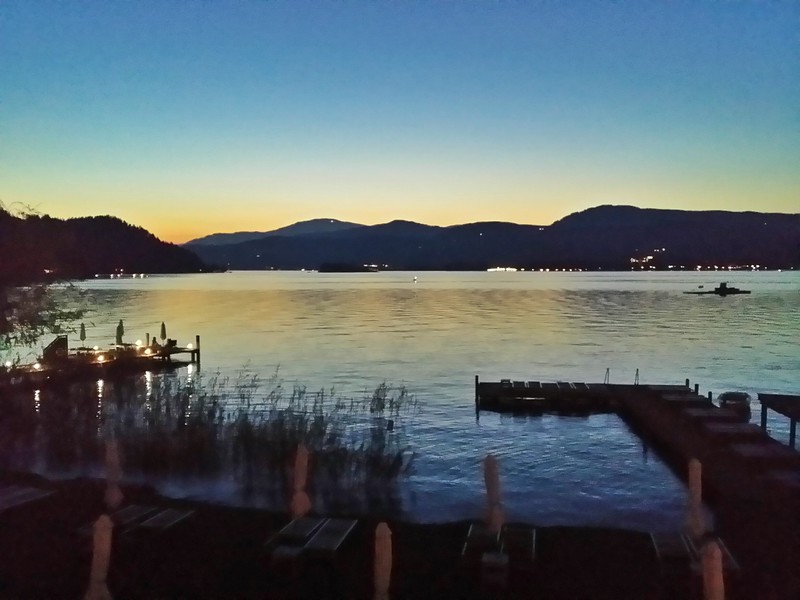
[[[415,281],[416,278],[416,281]],[[727,280],[752,290],[683,294]],[[800,393],[800,273],[233,272],[98,279],[87,344],[167,324],[201,336],[204,373],[247,367],[287,384],[363,395],[381,382],[421,404],[406,435],[416,471],[407,516],[476,518],[481,461],[500,464],[510,520],[658,530],[680,527],[684,489],[615,415],[512,417],[474,411],[474,377],[700,385],[701,393]],[[89,324],[91,323],[91,325]],[[73,345],[77,345],[74,342]],[[771,418],[778,439],[788,424]],[[167,493],[231,501],[209,482]]]

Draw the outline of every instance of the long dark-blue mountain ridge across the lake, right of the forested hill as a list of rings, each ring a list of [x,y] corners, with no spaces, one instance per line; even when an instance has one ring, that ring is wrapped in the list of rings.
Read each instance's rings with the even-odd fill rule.
[[[191,244],[229,269],[386,265],[394,270],[800,266],[800,215],[604,205],[549,226],[481,222],[438,227],[392,221],[333,231],[270,232],[235,244]]]

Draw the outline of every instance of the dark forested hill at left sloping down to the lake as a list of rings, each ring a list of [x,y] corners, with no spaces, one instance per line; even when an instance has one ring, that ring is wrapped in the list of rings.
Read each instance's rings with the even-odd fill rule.
[[[0,208],[0,282],[204,270],[196,254],[116,217],[19,217]]]

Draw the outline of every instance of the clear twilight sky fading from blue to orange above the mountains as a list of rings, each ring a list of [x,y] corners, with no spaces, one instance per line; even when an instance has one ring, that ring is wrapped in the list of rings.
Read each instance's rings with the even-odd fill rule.
[[[800,2],[0,0],[0,202],[175,243],[800,212]]]

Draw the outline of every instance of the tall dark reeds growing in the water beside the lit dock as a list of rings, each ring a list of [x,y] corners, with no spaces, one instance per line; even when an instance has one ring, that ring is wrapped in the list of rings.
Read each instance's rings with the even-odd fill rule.
[[[302,443],[318,507],[395,511],[399,483],[413,468],[407,425],[419,405],[405,387],[387,383],[344,396],[244,369],[233,379],[139,377],[56,395],[48,392],[36,413],[26,405],[27,443],[46,440],[38,450],[50,468],[101,464],[103,439],[113,434],[126,477],[222,480],[280,505]]]

